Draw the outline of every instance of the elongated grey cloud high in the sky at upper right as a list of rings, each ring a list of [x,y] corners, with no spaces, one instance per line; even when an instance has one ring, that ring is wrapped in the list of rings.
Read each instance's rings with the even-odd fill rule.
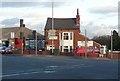
[[[115,6],[107,6],[107,7],[94,7],[90,9],[90,13],[95,14],[109,14],[109,13],[117,13],[118,8]]]

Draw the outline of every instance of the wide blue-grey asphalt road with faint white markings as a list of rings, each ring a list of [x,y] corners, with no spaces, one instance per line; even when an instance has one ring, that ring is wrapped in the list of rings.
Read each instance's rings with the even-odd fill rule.
[[[2,56],[2,79],[118,79],[118,61],[67,56]]]

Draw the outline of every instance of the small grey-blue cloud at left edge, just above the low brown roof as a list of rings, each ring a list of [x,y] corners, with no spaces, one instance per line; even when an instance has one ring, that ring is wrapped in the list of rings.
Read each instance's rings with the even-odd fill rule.
[[[1,21],[1,24],[4,25],[5,27],[15,26],[18,23],[19,23],[19,18],[5,19]]]

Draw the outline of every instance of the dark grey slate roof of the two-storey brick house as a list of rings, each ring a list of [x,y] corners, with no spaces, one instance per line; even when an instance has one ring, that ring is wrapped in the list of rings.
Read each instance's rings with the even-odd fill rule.
[[[76,26],[76,18],[54,18],[53,29],[79,29]],[[45,29],[52,29],[52,18],[48,18]]]

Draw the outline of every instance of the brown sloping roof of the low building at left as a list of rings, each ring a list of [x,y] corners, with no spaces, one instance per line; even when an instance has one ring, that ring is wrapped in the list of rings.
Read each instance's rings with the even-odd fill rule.
[[[8,27],[8,28],[0,28],[0,30],[2,31],[2,38],[11,38],[11,32],[14,32],[16,35],[15,37],[20,37],[20,32],[24,32],[24,36],[26,38],[29,37],[30,34],[32,34],[31,29],[26,28],[26,27]],[[37,35],[41,35],[40,33],[37,33]]]

